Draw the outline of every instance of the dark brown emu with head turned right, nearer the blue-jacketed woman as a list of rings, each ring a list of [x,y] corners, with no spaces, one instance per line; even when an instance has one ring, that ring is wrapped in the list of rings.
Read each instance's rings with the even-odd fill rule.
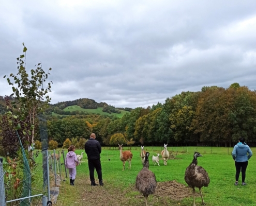
[[[199,152],[194,152],[194,159],[192,163],[187,167],[185,172],[185,181],[187,182],[189,187],[192,187],[193,195],[194,195],[194,204],[195,206],[195,190],[194,187],[198,187],[201,198],[202,198],[202,204],[205,205],[203,195],[201,188],[203,186],[208,186],[210,183],[210,179],[208,176],[208,173],[205,171],[205,169],[201,166],[198,166],[198,157],[203,157]]]

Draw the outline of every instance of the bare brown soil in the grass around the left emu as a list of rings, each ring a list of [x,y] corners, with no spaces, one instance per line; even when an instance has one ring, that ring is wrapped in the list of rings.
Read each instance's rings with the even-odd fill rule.
[[[80,187],[79,199],[76,205],[144,205],[144,197],[137,193],[133,185],[122,190],[105,182],[104,186],[90,186],[89,179],[77,181],[76,186]],[[174,201],[182,200],[192,196],[192,189],[176,181],[159,182],[157,190],[149,200],[149,205],[155,203],[166,204],[168,199]],[[160,205],[159,204],[159,205]]]

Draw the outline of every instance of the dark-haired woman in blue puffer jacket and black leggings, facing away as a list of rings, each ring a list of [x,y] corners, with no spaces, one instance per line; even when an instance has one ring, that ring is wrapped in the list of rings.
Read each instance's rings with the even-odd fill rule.
[[[248,154],[248,155],[247,155]],[[234,146],[232,151],[232,157],[235,161],[235,185],[238,185],[238,179],[240,175],[240,171],[242,171],[242,185],[246,185],[245,183],[245,172],[248,165],[248,160],[252,156],[252,151],[250,147],[245,143],[244,138],[240,138],[238,140],[237,145]]]

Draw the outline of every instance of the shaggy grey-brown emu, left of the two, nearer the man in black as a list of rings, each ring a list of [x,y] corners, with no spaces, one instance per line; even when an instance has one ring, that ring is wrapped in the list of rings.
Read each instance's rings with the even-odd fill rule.
[[[146,152],[145,161],[143,163],[143,168],[140,170],[136,177],[135,186],[137,190],[143,194],[145,197],[145,203],[147,206],[147,197],[152,195],[156,191],[157,181],[155,174],[150,171],[149,168],[149,152]]]

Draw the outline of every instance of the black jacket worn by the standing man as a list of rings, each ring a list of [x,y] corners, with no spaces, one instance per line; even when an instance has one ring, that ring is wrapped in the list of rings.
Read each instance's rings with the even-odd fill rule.
[[[101,146],[100,143],[90,138],[84,145],[85,153],[87,154],[88,160],[100,159]]]

